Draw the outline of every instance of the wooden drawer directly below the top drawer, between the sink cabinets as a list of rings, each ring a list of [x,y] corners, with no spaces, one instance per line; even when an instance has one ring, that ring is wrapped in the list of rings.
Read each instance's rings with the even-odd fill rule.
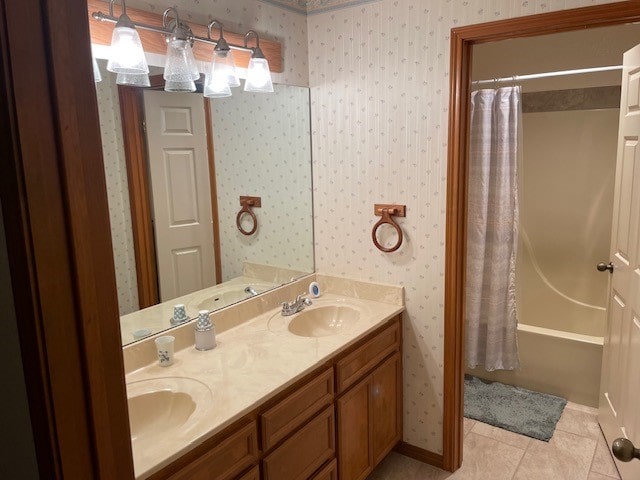
[[[262,463],[264,480],[306,480],[335,457],[333,405],[311,420]]]

